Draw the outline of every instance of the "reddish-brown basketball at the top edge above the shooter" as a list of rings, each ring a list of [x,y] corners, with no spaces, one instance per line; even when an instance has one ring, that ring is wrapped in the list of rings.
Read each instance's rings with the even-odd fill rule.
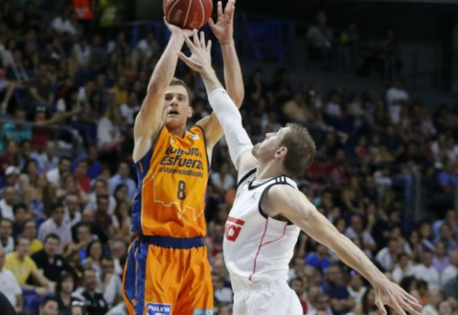
[[[212,0],[164,0],[162,3],[167,22],[192,30],[201,28],[212,15]]]

